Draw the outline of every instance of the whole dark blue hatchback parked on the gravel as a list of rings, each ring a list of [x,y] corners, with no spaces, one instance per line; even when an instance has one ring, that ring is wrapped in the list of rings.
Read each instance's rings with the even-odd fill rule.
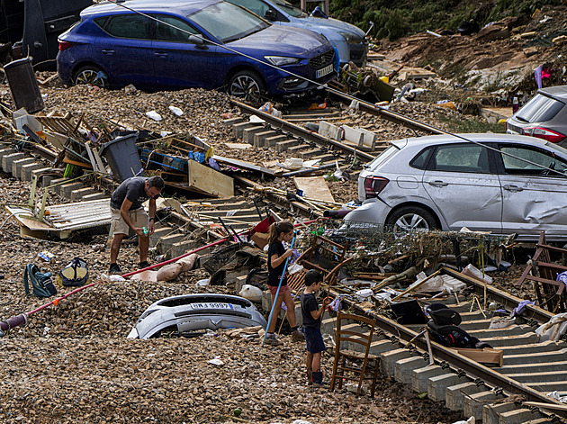
[[[59,36],[57,66],[67,85],[225,87],[255,103],[337,77],[335,50],[325,37],[272,25],[219,0],[87,7]]]

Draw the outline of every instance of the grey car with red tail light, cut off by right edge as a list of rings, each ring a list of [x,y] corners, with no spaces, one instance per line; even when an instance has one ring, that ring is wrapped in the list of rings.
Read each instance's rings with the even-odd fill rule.
[[[542,88],[506,122],[506,132],[567,147],[567,86]]]

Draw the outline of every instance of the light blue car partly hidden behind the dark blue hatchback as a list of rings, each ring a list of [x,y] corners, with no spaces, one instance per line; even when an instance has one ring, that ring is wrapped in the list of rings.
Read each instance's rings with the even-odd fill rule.
[[[318,32],[327,38],[338,51],[341,67],[353,62],[364,67],[368,54],[366,34],[360,28],[337,19],[312,16],[285,0],[227,0],[234,5],[246,7],[250,12],[271,23],[293,26]]]

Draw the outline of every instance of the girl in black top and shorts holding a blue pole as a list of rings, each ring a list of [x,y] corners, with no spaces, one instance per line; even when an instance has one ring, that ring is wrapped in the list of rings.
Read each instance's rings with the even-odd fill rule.
[[[284,248],[282,244],[283,241],[289,243],[293,239],[293,224],[290,221],[279,221],[275,222],[270,226],[270,231],[268,232],[268,276],[267,284],[270,288],[270,293],[272,294],[272,304],[274,306],[274,312],[272,314],[272,321],[267,329],[265,343],[272,346],[279,346],[282,344],[280,340],[275,338],[275,322],[277,317],[282,310],[282,302],[285,303],[287,308],[287,320],[292,327],[292,339],[293,341],[301,340],[303,338],[302,333],[298,330],[297,320],[295,318],[295,302],[293,302],[292,292],[287,286],[287,277],[284,275],[285,259],[293,255],[293,250]],[[284,275],[284,281],[278,292],[277,288],[280,284],[280,278]]]

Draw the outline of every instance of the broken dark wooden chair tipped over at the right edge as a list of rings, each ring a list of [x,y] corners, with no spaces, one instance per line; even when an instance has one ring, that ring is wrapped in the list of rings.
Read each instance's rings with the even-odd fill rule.
[[[528,261],[516,285],[521,287],[527,280],[533,281],[540,308],[553,313],[565,312],[567,311],[565,284],[556,281],[556,278],[558,274],[567,271],[567,266],[553,264],[550,252],[567,254],[567,249],[546,244],[545,231],[542,231],[536,243],[536,254]]]

